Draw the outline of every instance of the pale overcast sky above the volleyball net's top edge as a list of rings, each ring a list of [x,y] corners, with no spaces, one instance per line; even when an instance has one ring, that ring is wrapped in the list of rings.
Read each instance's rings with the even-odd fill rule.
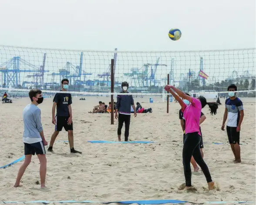
[[[168,38],[179,28],[178,41]],[[0,44],[77,50],[255,47],[255,0],[0,0]]]

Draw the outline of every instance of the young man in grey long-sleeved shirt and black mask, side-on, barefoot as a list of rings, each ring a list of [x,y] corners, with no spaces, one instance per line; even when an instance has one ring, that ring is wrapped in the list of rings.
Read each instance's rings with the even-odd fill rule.
[[[31,89],[28,95],[31,103],[23,110],[25,160],[20,166],[14,187],[20,186],[20,179],[27,169],[27,166],[30,164],[32,155],[37,154],[40,162],[41,188],[44,188],[46,176],[46,156],[44,146],[47,145],[47,141],[44,138],[44,131],[41,123],[41,111],[37,107],[38,104],[43,102],[44,98],[40,89]]]

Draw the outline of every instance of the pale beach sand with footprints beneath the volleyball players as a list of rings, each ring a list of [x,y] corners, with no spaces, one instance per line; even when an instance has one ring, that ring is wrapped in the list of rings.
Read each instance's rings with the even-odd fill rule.
[[[255,201],[255,99],[242,98],[245,117],[241,126],[241,164],[234,164],[226,131],[222,131],[225,106],[220,106],[216,116],[207,108],[202,112],[207,119],[202,124],[205,162],[212,179],[219,188],[207,191],[202,171],[192,175],[195,192],[179,191],[185,182],[182,166],[182,129],[179,121],[179,104],[149,103],[149,97],[135,98],[150,114],[131,118],[130,137],[136,141],[155,141],[153,144],[92,144],[88,140],[117,141],[117,120],[110,124],[110,114],[88,114],[98,101],[108,103],[110,98],[79,97],[73,99],[74,145],[83,152],[70,154],[67,132],[60,132],[54,144],[54,153],[47,152],[48,189],[41,190],[37,156],[27,168],[21,185],[13,188],[17,171],[22,162],[0,169],[1,201],[33,200],[91,200],[121,201],[148,199],[177,199],[191,202]],[[224,99],[221,99],[224,102]],[[24,154],[22,142],[22,111],[28,98],[14,99],[13,104],[0,104],[0,166]],[[45,137],[50,142],[54,125],[51,123],[52,99],[46,98],[39,105]],[[124,140],[124,128],[122,130]],[[59,141],[59,142],[58,142]],[[215,145],[212,142],[223,142]],[[46,147],[47,149],[47,147]]]

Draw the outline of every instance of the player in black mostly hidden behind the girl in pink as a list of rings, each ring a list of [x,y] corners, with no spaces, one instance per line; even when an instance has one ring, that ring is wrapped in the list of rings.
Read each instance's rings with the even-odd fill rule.
[[[186,95],[190,96],[189,93],[185,93]],[[183,102],[186,104],[186,105],[189,105],[189,101],[188,100],[183,100]],[[183,131],[183,143],[185,141],[185,138],[186,138],[186,134],[185,134],[185,119],[183,117],[183,112],[182,110],[180,109],[179,110],[179,119],[180,119],[180,124],[181,124],[181,127],[182,127],[182,131]],[[202,122],[204,122],[206,119],[206,116],[204,115],[204,113],[201,112],[201,118],[200,118],[200,121],[199,121],[199,125],[202,124]],[[204,157],[204,153],[202,151],[202,149],[204,148],[204,145],[203,145],[203,139],[202,139],[202,132],[201,132],[201,127],[199,127],[200,129],[200,133],[201,133],[201,140],[200,140],[200,151],[201,151],[201,155],[202,155],[202,158]],[[194,172],[197,172],[199,170],[199,167],[198,165],[196,164],[195,162],[195,159],[191,158],[191,164],[193,165],[194,167]]]

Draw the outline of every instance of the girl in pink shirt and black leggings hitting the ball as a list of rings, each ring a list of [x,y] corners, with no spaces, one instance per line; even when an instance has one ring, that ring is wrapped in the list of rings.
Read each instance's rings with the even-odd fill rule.
[[[190,160],[193,156],[195,162],[201,167],[202,172],[205,175],[206,181],[208,183],[209,190],[213,189],[214,182],[212,181],[212,177],[210,175],[208,166],[205,164],[201,152],[200,152],[200,128],[199,128],[199,120],[201,117],[201,110],[206,105],[209,106],[211,114],[216,115],[218,109],[218,103],[216,102],[207,102],[203,96],[199,96],[198,98],[193,98],[191,96],[186,95],[181,90],[175,88],[174,86],[166,85],[165,90],[170,92],[172,96],[179,102],[182,107],[183,116],[185,118],[185,133],[186,138],[183,144],[182,151],[182,160],[184,167],[184,175],[186,187],[184,190],[192,190],[191,185],[191,167]],[[177,96],[174,91],[179,95]],[[186,99],[191,102],[188,106],[182,101],[182,99]]]

